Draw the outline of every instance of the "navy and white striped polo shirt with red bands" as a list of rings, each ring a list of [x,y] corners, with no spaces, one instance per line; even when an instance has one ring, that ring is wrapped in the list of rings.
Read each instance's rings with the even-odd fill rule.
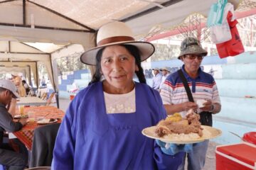
[[[199,99],[208,99],[213,103],[220,103],[220,96],[212,75],[203,72],[199,68],[198,77],[193,79],[186,74],[184,65],[182,66],[182,72],[188,80],[188,86],[191,89],[195,102]],[[164,84],[161,86],[160,95],[164,104],[179,104],[188,101],[186,89],[178,76],[178,72],[174,72],[166,78]],[[200,112],[201,110],[198,108],[198,113]],[[185,117],[186,111],[181,112],[181,115]]]

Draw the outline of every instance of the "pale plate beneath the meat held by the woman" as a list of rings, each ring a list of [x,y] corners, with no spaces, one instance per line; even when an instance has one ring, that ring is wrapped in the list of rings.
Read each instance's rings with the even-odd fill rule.
[[[163,142],[169,142],[169,143],[175,143],[175,144],[188,144],[188,143],[198,143],[203,142],[204,140],[210,140],[215,137],[218,137],[221,135],[221,130],[218,130],[216,128],[212,128],[210,126],[201,125],[201,128],[203,128],[203,136],[202,137],[195,137],[195,135],[191,134],[183,134],[183,137],[180,137],[179,135],[166,135],[164,137],[159,137],[155,131],[156,126],[151,126],[149,128],[144,128],[142,130],[142,134],[146,137],[150,137],[155,140],[161,140]]]

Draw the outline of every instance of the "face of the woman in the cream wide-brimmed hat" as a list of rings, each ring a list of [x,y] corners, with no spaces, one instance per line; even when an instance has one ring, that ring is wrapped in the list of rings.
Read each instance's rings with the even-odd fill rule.
[[[135,58],[125,47],[112,45],[102,52],[101,72],[107,81],[107,91],[127,93],[134,87],[134,72],[138,71]]]

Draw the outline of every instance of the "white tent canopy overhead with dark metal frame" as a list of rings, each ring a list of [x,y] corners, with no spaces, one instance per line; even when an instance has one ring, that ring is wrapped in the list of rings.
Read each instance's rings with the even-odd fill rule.
[[[7,66],[8,62],[17,62],[18,67],[30,65],[37,82],[37,66],[31,63],[45,64],[50,81],[58,91],[58,75],[53,72],[56,50],[73,44],[80,44],[85,50],[94,47],[98,28],[114,20],[126,22],[134,35],[146,37],[156,26],[164,30],[172,28],[191,13],[207,16],[215,1],[0,0],[0,61],[6,67],[11,66],[11,63]],[[58,47],[43,51],[33,47],[33,42],[49,42]],[[28,63],[21,64],[26,61]]]

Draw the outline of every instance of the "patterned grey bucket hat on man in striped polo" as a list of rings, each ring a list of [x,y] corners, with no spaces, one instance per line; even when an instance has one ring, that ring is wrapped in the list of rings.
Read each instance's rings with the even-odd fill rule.
[[[207,51],[203,49],[196,38],[188,37],[181,42],[181,52],[178,55],[178,59],[181,60],[181,56],[189,54],[206,56]]]

